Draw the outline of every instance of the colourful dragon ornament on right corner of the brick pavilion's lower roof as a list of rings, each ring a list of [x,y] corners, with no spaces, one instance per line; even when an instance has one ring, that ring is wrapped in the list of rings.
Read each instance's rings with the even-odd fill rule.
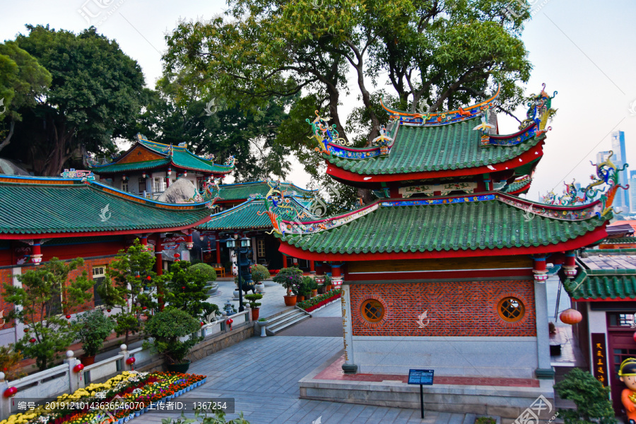
[[[625,163],[623,167],[616,167],[616,165],[614,165],[611,161],[612,155],[613,151],[610,151],[610,155],[602,163],[592,163],[590,160],[591,165],[596,167],[596,175],[590,176],[592,182],[589,183],[587,187],[577,189],[575,185],[576,180],[572,179],[572,183],[570,184],[563,182],[563,184],[565,184],[565,189],[561,196],[557,196],[554,192],[549,192],[546,196],[543,196],[541,201],[544,204],[571,206],[584,204],[601,194],[601,201],[603,202],[603,211],[601,212],[601,215],[606,215],[612,209],[614,196],[616,196],[618,189],[628,190],[630,188],[629,184],[623,187],[618,182],[619,172],[625,170],[629,165]],[[603,186],[603,184],[606,184],[605,192],[602,192],[601,187],[599,187]],[[583,194],[583,197],[577,196],[577,193],[579,192]]]

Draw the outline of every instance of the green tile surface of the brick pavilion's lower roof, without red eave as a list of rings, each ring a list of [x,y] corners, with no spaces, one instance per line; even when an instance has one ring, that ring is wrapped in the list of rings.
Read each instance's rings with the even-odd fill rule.
[[[302,235],[288,232],[282,240],[302,250],[337,254],[504,249],[557,245],[605,222],[596,216],[562,220],[533,215],[528,219],[523,208],[505,203],[496,192],[484,197],[490,200],[457,198],[468,201],[446,204],[425,204],[435,198],[380,200],[368,207],[377,205],[375,211],[343,225]],[[419,205],[398,206],[414,203]]]

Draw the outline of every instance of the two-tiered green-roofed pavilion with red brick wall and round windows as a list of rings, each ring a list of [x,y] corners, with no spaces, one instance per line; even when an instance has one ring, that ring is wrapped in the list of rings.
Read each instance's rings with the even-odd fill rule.
[[[343,289],[344,355],[303,379],[301,397],[419,408],[403,382],[425,369],[432,410],[514,419],[553,400],[548,262],[576,275],[577,249],[607,236],[618,186],[582,205],[515,196],[543,156],[553,96],[533,95],[519,131],[499,135],[497,95],[428,114],[384,106],[390,123],[366,148],[312,122],[327,174],[380,199],[319,220],[272,214],[281,252],[330,266]]]

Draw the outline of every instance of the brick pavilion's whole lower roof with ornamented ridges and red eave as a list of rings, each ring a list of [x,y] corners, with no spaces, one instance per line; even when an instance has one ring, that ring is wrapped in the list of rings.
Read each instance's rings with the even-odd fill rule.
[[[591,245],[606,237],[600,202],[546,206],[501,192],[427,199],[379,200],[323,220],[279,220],[281,252],[404,257],[532,254]],[[276,227],[276,226],[275,226]],[[409,256],[411,255],[411,256]],[[329,257],[331,258],[331,257]],[[344,259],[340,257],[340,259]],[[331,260],[331,259],[324,259]]]

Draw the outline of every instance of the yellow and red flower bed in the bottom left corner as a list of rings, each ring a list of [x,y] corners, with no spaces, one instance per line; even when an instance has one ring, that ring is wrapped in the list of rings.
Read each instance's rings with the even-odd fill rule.
[[[205,375],[124,371],[105,383],[63,394],[55,401],[12,415],[0,424],[123,424],[204,382]]]

